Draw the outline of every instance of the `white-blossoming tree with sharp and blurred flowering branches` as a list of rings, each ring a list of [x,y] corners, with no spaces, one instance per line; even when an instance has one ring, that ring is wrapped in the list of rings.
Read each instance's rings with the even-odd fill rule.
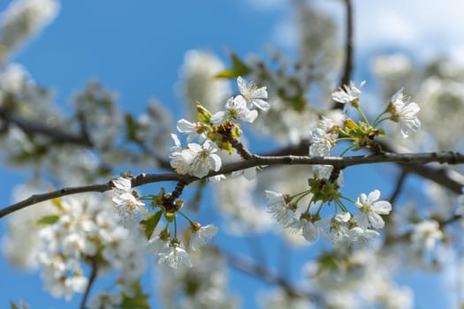
[[[34,177],[0,209],[11,262],[40,268],[44,290],[80,297],[80,308],[148,308],[153,295],[169,308],[236,308],[228,267],[276,289],[262,297],[265,308],[413,307],[395,273],[439,269],[444,255],[460,252],[464,70],[450,73],[440,60],[409,76],[407,58],[378,57],[385,99],[374,109],[363,96],[366,82],[352,80],[351,2],[340,2],[342,46],[331,19],[304,1],[294,5],[300,57],[274,52],[268,63],[231,51],[224,65],[188,51],[179,85],[189,117],[171,124],[157,102],[140,116],[121,113],[96,82],[73,98],[70,114],[55,108],[49,91],[9,59],[54,18],[58,3],[12,1],[1,19],[0,138],[7,162],[30,167]],[[449,113],[446,123],[437,124],[434,112]],[[262,153],[260,137],[274,149]],[[392,193],[375,184],[345,189],[358,180],[344,172],[377,163],[396,168],[398,176],[384,171]],[[115,175],[120,166],[140,172]],[[409,175],[434,192],[433,207],[397,203]],[[202,212],[222,219],[203,222]],[[271,235],[313,256],[296,266],[296,281],[260,259],[257,245],[247,258],[217,244],[220,233]],[[141,283],[152,267],[157,292]],[[100,280],[110,280],[108,288],[96,290]],[[28,306],[11,303],[19,307]]]

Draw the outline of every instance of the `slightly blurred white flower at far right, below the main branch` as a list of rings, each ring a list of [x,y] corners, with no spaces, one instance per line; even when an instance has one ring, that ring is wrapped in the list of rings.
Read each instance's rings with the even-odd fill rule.
[[[443,232],[435,220],[426,220],[415,224],[411,241],[415,248],[432,250],[438,241],[443,239]]]

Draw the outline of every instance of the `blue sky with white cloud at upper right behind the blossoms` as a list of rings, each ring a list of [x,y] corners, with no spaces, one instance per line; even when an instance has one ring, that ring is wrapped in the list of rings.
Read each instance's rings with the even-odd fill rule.
[[[337,0],[316,3],[343,20],[343,6]],[[0,2],[0,11],[6,4]],[[406,52],[416,62],[446,54],[464,64],[462,11],[464,2],[459,0],[354,1],[356,80],[367,72],[369,57],[385,50]],[[57,19],[12,60],[23,64],[39,84],[55,89],[57,105],[62,109],[68,109],[68,98],[88,79],[98,79],[105,87],[118,91],[125,111],[137,115],[145,109],[148,99],[156,96],[174,115],[179,115],[180,100],[174,86],[186,50],[208,49],[226,63],[225,49],[240,56],[265,56],[266,45],[273,44],[291,52],[295,44],[292,21],[286,0],[139,0],[137,4],[68,1],[62,3]],[[2,207],[11,201],[12,189],[25,177],[27,171],[2,169]],[[5,222],[0,221],[0,235],[4,235]],[[217,241],[226,240],[219,236]],[[248,250],[243,242],[233,245],[237,250]],[[267,250],[276,252],[278,247]],[[66,306],[42,290],[37,273],[11,269],[4,257],[0,257],[0,274],[0,307],[19,297],[32,308]],[[231,275],[231,290],[240,294],[245,291],[244,307],[255,307],[256,289],[269,288],[233,271]],[[146,280],[149,282],[149,278]],[[449,305],[449,299],[437,299],[446,286],[436,275],[410,274],[399,281],[413,283],[418,295],[422,295],[415,299],[417,307]],[[70,307],[76,307],[80,298],[73,300]]]

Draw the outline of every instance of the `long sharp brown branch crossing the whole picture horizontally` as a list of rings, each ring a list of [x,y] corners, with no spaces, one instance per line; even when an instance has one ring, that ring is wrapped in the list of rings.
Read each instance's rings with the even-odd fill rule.
[[[283,156],[260,156],[255,155],[251,159],[244,162],[234,162],[225,165],[221,170],[211,171],[206,177],[217,176],[220,174],[229,174],[236,170],[245,170],[252,167],[259,166],[272,166],[272,165],[332,165],[334,168],[343,170],[346,167],[360,165],[360,164],[374,164],[374,163],[385,163],[385,162],[396,162],[402,163],[408,167],[408,164],[416,164],[427,170],[428,167],[420,164],[439,162],[448,164],[462,164],[464,163],[464,155],[454,152],[442,152],[442,153],[424,153],[424,154],[392,154],[384,153],[381,155],[358,155],[348,157],[310,157],[310,156],[298,156],[298,155],[283,155]],[[445,174],[444,174],[445,175]],[[446,177],[445,179],[450,180],[451,178]],[[183,185],[189,185],[199,178],[190,175],[179,175],[176,173],[168,174],[141,174],[132,179],[133,187],[139,185],[146,185],[150,183],[162,182],[162,181],[178,181]],[[451,180],[450,180],[451,181]],[[453,186],[459,187],[459,190],[453,190],[454,192],[460,193],[462,186],[464,186],[464,179],[453,180],[453,184],[446,183],[447,187],[453,190]],[[112,188],[111,182],[102,185],[84,185],[78,187],[63,188],[54,192],[48,192],[43,194],[34,194],[27,200],[19,201],[9,207],[4,207],[0,210],[0,218],[4,215],[11,214],[14,211],[22,209],[24,207],[45,201],[51,200],[58,197],[72,195],[82,192],[105,192]]]

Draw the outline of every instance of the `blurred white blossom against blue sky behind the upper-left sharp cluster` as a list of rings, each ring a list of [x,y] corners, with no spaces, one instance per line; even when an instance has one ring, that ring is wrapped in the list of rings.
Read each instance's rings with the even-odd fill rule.
[[[180,68],[177,89],[186,102],[190,118],[196,118],[196,102],[216,112],[232,94],[230,83],[215,76],[225,69],[221,60],[209,51],[192,49],[186,52]]]

